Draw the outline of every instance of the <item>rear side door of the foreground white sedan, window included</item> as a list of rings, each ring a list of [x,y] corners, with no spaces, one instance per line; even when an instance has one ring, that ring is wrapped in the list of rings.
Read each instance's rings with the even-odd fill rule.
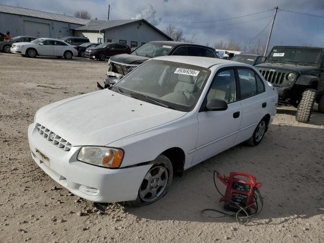
[[[250,68],[237,68],[240,103],[242,106],[242,120],[240,131],[235,143],[249,139],[266,115],[266,107],[271,98],[265,92],[265,84],[259,75]]]

